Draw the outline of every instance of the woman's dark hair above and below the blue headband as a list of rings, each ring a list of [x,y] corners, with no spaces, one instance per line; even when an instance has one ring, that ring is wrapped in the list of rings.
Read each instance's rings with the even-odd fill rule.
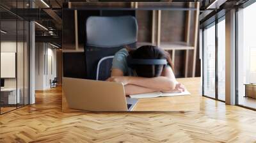
[[[159,47],[144,45],[136,50],[132,50],[130,56],[133,59],[166,59],[173,68],[170,54]],[[139,77],[159,77],[163,71],[164,65],[141,65],[132,66]]]

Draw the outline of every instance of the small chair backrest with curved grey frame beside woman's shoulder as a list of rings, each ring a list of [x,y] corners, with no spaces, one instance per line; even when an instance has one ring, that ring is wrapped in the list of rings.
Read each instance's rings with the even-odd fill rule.
[[[114,56],[103,57],[97,65],[96,80],[106,80],[111,76],[111,67]]]

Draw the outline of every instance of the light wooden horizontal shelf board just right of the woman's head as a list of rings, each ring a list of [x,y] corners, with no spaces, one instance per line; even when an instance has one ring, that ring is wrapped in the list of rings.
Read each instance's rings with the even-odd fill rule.
[[[161,42],[160,46],[161,49],[164,50],[193,50],[194,47],[188,45],[186,42]]]

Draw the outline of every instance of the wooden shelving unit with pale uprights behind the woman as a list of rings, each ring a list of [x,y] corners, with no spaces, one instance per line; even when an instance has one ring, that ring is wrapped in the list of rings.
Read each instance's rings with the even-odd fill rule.
[[[132,8],[138,7],[138,2],[131,3]],[[168,42],[161,40],[161,22],[162,22],[162,11],[161,10],[152,10],[152,27],[151,27],[151,41],[138,42],[138,46],[141,45],[157,45],[158,47],[164,50],[172,51],[172,61],[175,64],[175,51],[176,50],[185,50],[185,77],[188,77],[188,62],[189,62],[189,52],[193,51],[193,69],[192,77],[195,77],[196,70],[196,50],[197,50],[197,41],[198,41],[198,16],[199,16],[199,3],[188,3],[188,8],[196,8],[195,11],[186,11],[186,29],[184,33],[184,41],[175,41]],[[140,12],[140,11],[139,11]],[[193,20],[193,30],[191,30],[191,15],[194,15]],[[137,11],[136,11],[137,13]],[[136,14],[137,17],[137,14]],[[193,40],[191,40],[190,35],[193,32]]]

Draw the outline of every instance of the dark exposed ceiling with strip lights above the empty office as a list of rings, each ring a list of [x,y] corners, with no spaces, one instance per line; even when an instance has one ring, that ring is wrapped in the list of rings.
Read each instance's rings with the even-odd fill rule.
[[[36,24],[36,35],[38,36],[48,36],[47,39],[58,37],[61,39],[62,30],[62,6],[65,2],[90,2],[97,0],[1,0],[0,1],[0,16],[2,22],[1,27],[5,27],[8,31],[13,31],[16,28],[15,22],[17,17],[24,20],[35,20],[38,22]],[[98,1],[119,1],[119,0],[98,0]],[[123,0],[125,1],[125,0]],[[129,0],[126,0],[129,2]],[[149,0],[141,0],[149,1]],[[157,0],[157,1],[179,1],[179,2],[189,2],[189,1],[199,1],[200,2],[200,20],[204,22],[207,19],[207,15],[216,12],[209,8],[210,5],[214,3],[216,7],[225,6],[225,8],[232,7],[236,4],[244,3],[247,0]],[[218,3],[215,3],[217,1]],[[131,2],[131,1],[130,1]],[[218,6],[218,4],[220,4]],[[215,6],[214,5],[214,6]],[[33,8],[32,8],[33,7]],[[213,8],[214,9],[214,8]],[[218,11],[218,10],[217,10]],[[45,31],[46,27],[48,30]],[[19,27],[19,26],[18,26]],[[18,28],[18,33],[23,29]],[[51,32],[49,32],[51,31]],[[11,34],[12,32],[10,32]],[[53,33],[53,34],[51,34]],[[16,34],[13,31],[13,34]],[[60,40],[61,44],[61,40]]]

